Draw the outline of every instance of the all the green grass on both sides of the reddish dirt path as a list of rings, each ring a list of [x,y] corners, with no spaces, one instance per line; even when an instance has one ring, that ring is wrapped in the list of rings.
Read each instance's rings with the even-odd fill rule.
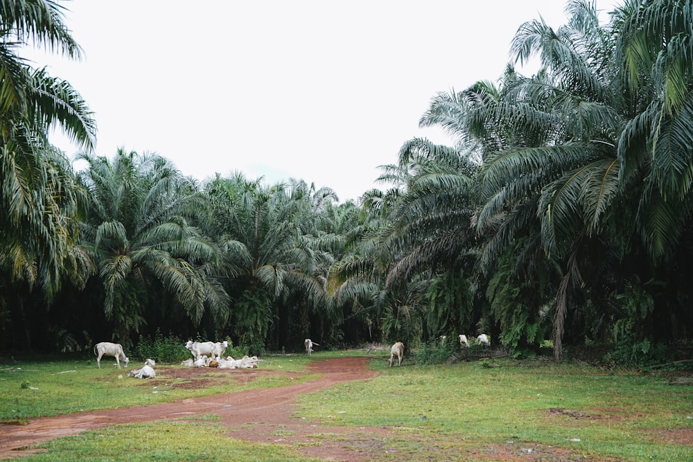
[[[344,354],[364,352],[269,357],[261,367],[299,372],[308,361]],[[101,370],[92,359],[3,366],[0,419],[21,423],[80,409],[288,384],[281,376],[248,384],[217,377],[204,389],[177,389],[170,382],[169,393],[164,393],[166,384],[159,387],[161,393],[151,393],[132,387],[119,378],[123,371],[105,364]],[[389,368],[383,353],[374,356],[371,368],[382,374],[302,396],[298,416],[326,425],[386,427],[391,436],[383,445],[389,450],[377,459],[383,461],[693,460],[693,386],[685,371],[611,373],[541,359],[450,366],[417,366],[407,359],[402,367]],[[24,460],[309,460],[291,447],[228,438],[213,415],[194,422],[119,425],[107,433],[108,438],[103,431],[58,438],[42,445],[48,452]],[[148,436],[144,445],[143,434]]]

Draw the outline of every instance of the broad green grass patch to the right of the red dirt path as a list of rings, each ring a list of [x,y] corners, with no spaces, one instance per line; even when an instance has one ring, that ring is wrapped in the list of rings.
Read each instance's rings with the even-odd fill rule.
[[[690,446],[666,436],[693,434],[690,386],[672,386],[667,375],[611,375],[589,366],[498,365],[388,368],[378,359],[373,367],[383,375],[303,396],[300,414],[348,427],[394,427],[432,444],[535,444],[628,461],[693,460]]]

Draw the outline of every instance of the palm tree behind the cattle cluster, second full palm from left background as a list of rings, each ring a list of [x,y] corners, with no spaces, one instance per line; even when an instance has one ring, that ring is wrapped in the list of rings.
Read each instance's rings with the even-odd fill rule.
[[[208,233],[219,236],[230,268],[229,326],[241,344],[256,351],[268,341],[289,346],[290,318],[296,329],[307,330],[308,312],[324,305],[332,257],[311,232],[317,233],[319,211],[333,193],[308,188],[304,181],[289,188],[265,186],[238,173],[216,177],[205,190],[214,204]],[[306,333],[293,335],[305,338]]]

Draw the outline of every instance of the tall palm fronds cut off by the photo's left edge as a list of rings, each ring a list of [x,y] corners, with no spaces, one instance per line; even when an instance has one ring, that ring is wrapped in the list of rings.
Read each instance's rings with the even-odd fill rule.
[[[77,197],[71,166],[51,146],[49,133],[59,126],[90,150],[96,125],[68,82],[32,69],[17,54],[21,46],[35,45],[80,56],[62,7],[43,0],[0,1],[0,35],[0,271],[10,281],[40,285],[50,299],[62,275],[82,266],[83,256],[73,246]]]

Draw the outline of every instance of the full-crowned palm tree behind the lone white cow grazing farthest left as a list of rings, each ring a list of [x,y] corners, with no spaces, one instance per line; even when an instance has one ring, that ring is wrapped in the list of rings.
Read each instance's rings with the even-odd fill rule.
[[[220,249],[188,223],[206,210],[198,187],[157,154],[119,150],[113,161],[81,158],[89,163],[79,173],[89,197],[82,244],[98,267],[117,339],[129,344],[130,332],[146,323],[147,294],[159,286],[193,323],[206,310],[226,317]]]

